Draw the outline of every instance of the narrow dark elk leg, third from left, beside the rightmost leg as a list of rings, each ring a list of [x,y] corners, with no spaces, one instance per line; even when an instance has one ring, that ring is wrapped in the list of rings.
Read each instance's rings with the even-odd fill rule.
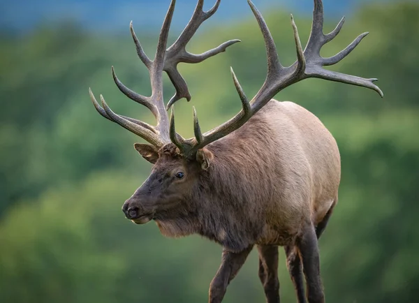
[[[304,276],[302,275],[302,264],[300,251],[297,246],[285,246],[286,265],[293,281],[298,303],[306,303],[304,295]]]

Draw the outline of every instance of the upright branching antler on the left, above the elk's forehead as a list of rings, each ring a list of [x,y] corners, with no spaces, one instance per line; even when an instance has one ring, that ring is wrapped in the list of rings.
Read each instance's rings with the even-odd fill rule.
[[[186,51],[186,44],[189,42],[189,40],[191,40],[193,34],[196,33],[200,27],[200,24],[202,24],[205,20],[216,13],[216,10],[219,8],[220,1],[221,0],[216,0],[215,5],[210,10],[205,12],[203,11],[204,0],[198,0],[196,9],[184,31],[179,36],[179,38],[177,38],[175,43],[173,43],[166,50],[170,23],[172,22],[173,11],[175,10],[176,3],[175,0],[172,0],[168,9],[168,13],[166,14],[165,20],[163,22],[163,27],[161,28],[159,43],[157,45],[156,55],[153,61],[147,57],[147,54],[145,54],[144,50],[142,49],[140,41],[135,35],[133,24],[131,22],[131,36],[133,37],[138,57],[149,70],[152,84],[152,96],[142,96],[122,84],[122,82],[119,81],[117,75],[115,74],[113,66],[112,76],[115,84],[117,84],[117,87],[120,91],[122,91],[122,93],[124,93],[131,100],[140,103],[141,105],[145,105],[145,107],[147,107],[152,112],[152,114],[154,114],[154,117],[156,117],[157,120],[156,126],[151,126],[143,121],[115,114],[115,112],[112,112],[112,110],[108,107],[108,104],[105,102],[105,99],[102,95],[101,106],[96,101],[96,98],[91,92],[91,89],[89,89],[91,101],[93,102],[94,107],[99,112],[99,114],[101,114],[106,119],[109,119],[110,121],[113,121],[128,129],[128,131],[139,135],[141,138],[145,139],[147,142],[156,147],[162,147],[166,143],[170,142],[169,119],[163,101],[163,71],[166,71],[166,73],[169,75],[170,80],[176,89],[175,96],[173,96],[168,103],[168,108],[170,108],[172,104],[181,98],[186,98],[187,101],[191,100],[191,94],[189,93],[186,82],[182,75],[180,75],[179,71],[177,71],[177,64],[181,62],[202,62],[207,58],[219,54],[220,52],[224,52],[228,46],[240,42],[240,40],[229,40],[226,43],[219,45],[219,47],[204,52],[203,54],[191,54]]]

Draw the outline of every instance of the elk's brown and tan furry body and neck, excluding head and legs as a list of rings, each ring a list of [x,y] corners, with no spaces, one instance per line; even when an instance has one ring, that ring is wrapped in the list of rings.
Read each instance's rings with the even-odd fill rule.
[[[175,147],[165,149],[162,161],[168,150],[170,159],[176,153]],[[231,251],[292,245],[304,225],[316,226],[337,202],[337,144],[300,105],[272,100],[206,149],[213,155],[210,168],[188,184],[191,200],[181,204],[187,207],[156,219],[163,235],[199,233]]]

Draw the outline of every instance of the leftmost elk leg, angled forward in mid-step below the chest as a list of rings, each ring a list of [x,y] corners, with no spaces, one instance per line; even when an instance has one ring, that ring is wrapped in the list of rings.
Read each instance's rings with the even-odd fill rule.
[[[208,302],[221,303],[226,294],[228,284],[234,279],[237,272],[239,272],[247,256],[249,256],[251,249],[253,249],[253,246],[249,246],[244,251],[240,251],[240,253],[233,253],[226,249],[223,250],[220,268],[211,281]]]

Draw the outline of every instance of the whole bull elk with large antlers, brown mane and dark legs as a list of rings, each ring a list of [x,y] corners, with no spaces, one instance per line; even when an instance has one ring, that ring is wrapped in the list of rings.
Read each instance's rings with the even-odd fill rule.
[[[321,57],[321,47],[339,34],[344,18],[330,34],[323,34],[323,3],[314,0],[311,34],[304,50],[291,15],[297,61],[285,67],[279,61],[265,20],[249,0],[265,40],[265,83],[249,101],[232,69],[242,110],[221,126],[202,133],[193,109],[195,135],[184,139],[175,131],[173,105],[182,98],[190,101],[191,94],[177,64],[199,63],[240,42],[230,40],[203,54],[186,51],[186,44],[216,12],[220,1],[216,0],[214,7],[204,11],[204,1],[198,0],[186,28],[166,49],[175,9],[172,0],[154,60],[143,51],[131,23],[138,57],[149,70],[152,96],[142,96],[125,87],[113,68],[112,75],[122,93],[154,114],[156,126],[115,114],[103,96],[99,105],[89,89],[91,101],[103,117],[149,142],[149,145],[136,143],[134,147],[154,164],[151,175],[126,200],[122,210],[126,218],[137,224],[156,221],[161,233],[168,237],[199,234],[223,246],[222,263],[210,285],[211,303],[223,300],[228,283],[255,245],[259,253],[258,275],[268,303],[279,302],[278,246],[284,246],[298,302],[306,302],[306,296],[309,303],[324,302],[318,238],[337,204],[339,149],[314,114],[295,103],[272,98],[309,77],[367,87],[383,96],[374,84],[376,79],[323,69],[344,59],[368,33],[358,36],[339,54]],[[167,107],[163,101],[163,71],[176,89]],[[172,108],[170,119],[169,108]]]

